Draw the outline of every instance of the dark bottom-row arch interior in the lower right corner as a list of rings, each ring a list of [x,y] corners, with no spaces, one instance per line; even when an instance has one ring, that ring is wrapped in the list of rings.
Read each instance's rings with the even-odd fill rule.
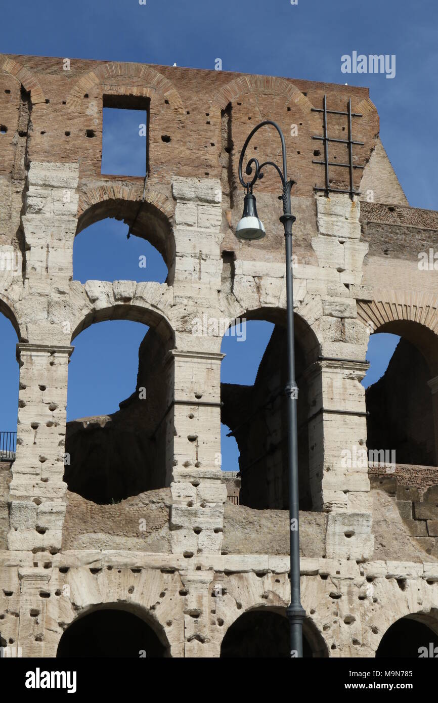
[[[407,657],[418,659],[420,647],[438,647],[438,636],[423,622],[403,617],[385,632],[377,652],[376,659],[389,657]],[[438,650],[437,650],[438,652]]]

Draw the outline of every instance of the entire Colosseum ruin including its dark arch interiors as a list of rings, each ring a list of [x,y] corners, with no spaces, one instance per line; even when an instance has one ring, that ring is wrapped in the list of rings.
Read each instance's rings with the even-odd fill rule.
[[[104,107],[147,111],[147,178],[101,173]],[[304,655],[438,645],[438,214],[409,206],[368,89],[4,55],[0,313],[20,366],[16,446],[0,453],[9,656],[108,656],[109,633],[131,657],[289,655],[273,169],[255,191],[266,237],[236,238],[240,150],[265,119],[283,130],[296,181]],[[260,130],[248,155],[280,163],[278,136]],[[165,283],[74,280],[76,234],[108,217],[160,252]],[[194,335],[195,318],[213,324]],[[214,321],[242,318],[275,325],[252,387],[221,384]],[[75,337],[122,319],[148,325],[137,387],[105,422],[67,423]],[[401,339],[365,390],[370,335],[384,332]],[[221,423],[238,473],[221,462]]]

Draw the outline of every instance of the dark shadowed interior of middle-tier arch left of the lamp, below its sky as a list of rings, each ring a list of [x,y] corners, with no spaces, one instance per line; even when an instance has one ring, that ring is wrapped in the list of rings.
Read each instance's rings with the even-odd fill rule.
[[[108,505],[165,486],[166,423],[160,420],[168,380],[162,360],[171,344],[149,328],[139,347],[136,387],[121,399],[120,410],[67,423],[64,480],[69,491]]]

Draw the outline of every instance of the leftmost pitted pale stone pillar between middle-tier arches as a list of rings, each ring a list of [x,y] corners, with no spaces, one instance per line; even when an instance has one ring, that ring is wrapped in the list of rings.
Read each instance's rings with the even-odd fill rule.
[[[20,363],[16,459],[9,486],[10,550],[59,550],[67,366],[73,347],[17,344]]]

